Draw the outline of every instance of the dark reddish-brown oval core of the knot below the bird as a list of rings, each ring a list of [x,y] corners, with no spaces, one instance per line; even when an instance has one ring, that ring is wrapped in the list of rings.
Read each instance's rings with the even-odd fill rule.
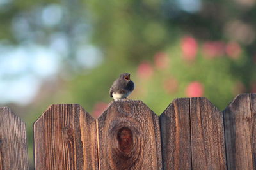
[[[122,127],[117,132],[118,148],[121,152],[131,152],[133,145],[132,131],[128,127]]]

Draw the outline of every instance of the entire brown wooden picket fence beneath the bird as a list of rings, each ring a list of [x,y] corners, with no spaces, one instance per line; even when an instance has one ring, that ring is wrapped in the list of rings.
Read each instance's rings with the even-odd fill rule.
[[[158,117],[118,101],[95,119],[54,104],[33,125],[36,169],[256,169],[256,94],[219,111],[205,97],[175,99]],[[0,169],[28,169],[26,127],[0,108]]]

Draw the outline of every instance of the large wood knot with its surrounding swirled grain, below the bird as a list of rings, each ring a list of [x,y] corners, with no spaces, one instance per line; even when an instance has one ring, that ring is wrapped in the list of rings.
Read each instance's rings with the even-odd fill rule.
[[[140,156],[143,155],[140,153],[143,147],[140,124],[131,118],[119,118],[111,122],[108,132],[114,169],[131,169],[135,164],[140,164]]]

